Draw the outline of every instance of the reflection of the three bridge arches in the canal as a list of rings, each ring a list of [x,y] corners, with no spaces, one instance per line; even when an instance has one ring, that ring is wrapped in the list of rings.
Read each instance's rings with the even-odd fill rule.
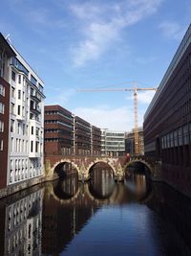
[[[91,173],[92,178],[86,183],[78,183],[77,174],[58,179],[53,182],[49,192],[61,204],[75,203],[82,193],[83,197],[86,195],[88,199],[96,202],[96,205],[123,203],[130,200],[140,201],[150,192],[150,182],[146,182],[145,175],[128,175],[129,181],[125,179],[124,191],[123,185],[118,186],[115,182],[112,170],[95,167]]]

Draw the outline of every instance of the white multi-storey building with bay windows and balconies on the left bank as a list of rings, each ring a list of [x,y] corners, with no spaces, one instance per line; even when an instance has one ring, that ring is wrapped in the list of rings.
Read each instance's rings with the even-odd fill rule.
[[[43,175],[44,82],[11,46],[7,185]]]

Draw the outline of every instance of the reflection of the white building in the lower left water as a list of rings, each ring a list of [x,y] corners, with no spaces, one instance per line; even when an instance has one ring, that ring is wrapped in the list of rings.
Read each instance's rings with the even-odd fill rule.
[[[1,229],[1,255],[41,255],[42,198],[41,189],[25,198],[3,200],[5,205],[0,211],[5,231]]]

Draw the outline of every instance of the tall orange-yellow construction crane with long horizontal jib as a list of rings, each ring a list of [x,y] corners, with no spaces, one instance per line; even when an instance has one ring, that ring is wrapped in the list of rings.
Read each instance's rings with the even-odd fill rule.
[[[95,88],[95,89],[78,89],[78,92],[111,92],[111,91],[133,91],[134,92],[134,144],[135,153],[138,154],[138,91],[157,91],[158,87],[138,88],[137,82],[133,88]]]

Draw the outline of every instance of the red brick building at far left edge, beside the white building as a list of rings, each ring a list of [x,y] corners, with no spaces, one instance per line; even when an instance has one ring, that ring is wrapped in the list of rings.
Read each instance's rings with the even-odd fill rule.
[[[10,58],[15,56],[11,46],[0,34],[0,189],[7,187],[10,91]]]

